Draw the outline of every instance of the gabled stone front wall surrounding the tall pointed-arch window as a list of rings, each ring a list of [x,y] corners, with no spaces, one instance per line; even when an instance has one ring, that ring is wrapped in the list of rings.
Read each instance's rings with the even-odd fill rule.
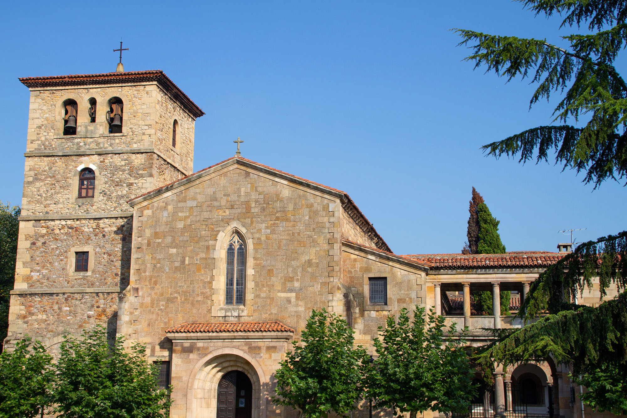
[[[250,233],[254,256],[251,309],[239,320],[301,329],[312,308],[328,306],[329,282],[339,277],[338,220],[330,203],[238,167],[136,207],[131,287],[137,302],[129,309],[137,314],[129,319],[137,325],[129,336],[156,345],[171,326],[226,319],[212,315],[213,282],[224,280],[213,276],[214,255],[219,232],[234,221]]]

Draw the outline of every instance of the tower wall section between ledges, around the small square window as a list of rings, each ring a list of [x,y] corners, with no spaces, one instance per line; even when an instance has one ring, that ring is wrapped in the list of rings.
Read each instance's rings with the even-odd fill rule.
[[[22,221],[15,289],[124,288],[129,284],[131,232],[131,218]],[[71,276],[71,247],[93,247],[90,276]]]

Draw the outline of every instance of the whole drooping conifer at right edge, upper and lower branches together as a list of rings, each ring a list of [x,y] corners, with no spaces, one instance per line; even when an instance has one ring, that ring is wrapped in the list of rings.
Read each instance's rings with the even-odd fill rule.
[[[530,106],[549,100],[553,92],[564,94],[557,104],[554,122],[483,146],[488,155],[520,155],[520,162],[534,158],[548,161],[551,151],[556,164],[585,171],[584,183],[596,189],[608,179],[620,180],[627,174],[626,100],[627,85],[613,63],[627,46],[627,3],[624,0],[519,0],[536,16],[559,14],[562,27],[587,25],[591,34],[562,36],[570,43],[560,48],[546,40],[487,35],[455,29],[463,38],[460,45],[471,46],[466,58],[475,68],[487,66],[509,80],[533,75],[539,83]],[[586,115],[586,126],[567,125]],[[525,309],[520,315],[534,319],[520,330],[502,330],[499,338],[478,354],[484,365],[497,361],[513,363],[553,356],[570,363],[572,378],[588,387],[582,397],[600,410],[627,413],[627,292],[596,308],[579,306],[577,291],[599,277],[601,297],[609,286],[627,285],[627,232],[608,235],[581,244],[557,264],[549,267],[530,286]],[[581,377],[579,377],[581,375]]]

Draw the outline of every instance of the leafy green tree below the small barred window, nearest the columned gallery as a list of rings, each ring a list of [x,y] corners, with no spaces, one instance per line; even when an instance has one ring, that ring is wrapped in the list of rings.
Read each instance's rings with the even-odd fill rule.
[[[409,412],[415,418],[427,409],[463,412],[475,395],[473,370],[461,338],[453,340],[455,325],[445,336],[445,318],[431,309],[428,321],[424,308],[416,309],[409,321],[408,309],[387,317],[386,328],[379,327],[381,339],[374,340],[377,358],[370,378],[369,397],[376,404],[399,415]]]

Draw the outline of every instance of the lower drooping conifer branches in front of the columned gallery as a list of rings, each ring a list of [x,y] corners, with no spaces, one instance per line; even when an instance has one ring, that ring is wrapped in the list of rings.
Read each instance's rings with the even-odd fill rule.
[[[596,308],[572,303],[594,277],[601,297],[610,286],[627,287],[627,231],[581,244],[540,274],[519,314],[527,321],[551,314],[519,330],[501,330],[477,361],[507,365],[551,356],[572,365],[572,378],[587,388],[584,402],[627,414],[627,292]]]

